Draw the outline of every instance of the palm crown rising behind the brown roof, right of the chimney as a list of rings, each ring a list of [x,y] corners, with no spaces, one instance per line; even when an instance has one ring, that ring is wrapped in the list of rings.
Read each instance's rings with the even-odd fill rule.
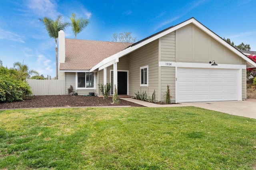
[[[84,18],[76,18],[76,14],[74,13],[71,14],[70,21],[71,21],[72,31],[75,35],[75,39],[76,39],[76,35],[80,33],[90,22],[89,20]]]

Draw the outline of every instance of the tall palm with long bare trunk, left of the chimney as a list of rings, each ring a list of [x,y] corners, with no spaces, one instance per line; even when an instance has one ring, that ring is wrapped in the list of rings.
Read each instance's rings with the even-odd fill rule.
[[[66,27],[70,25],[68,22],[62,22],[62,16],[59,15],[56,20],[52,20],[48,17],[39,18],[39,20],[43,23],[44,28],[48,32],[49,37],[54,38],[55,40],[55,58],[56,58],[56,79],[58,80],[58,32],[60,30],[64,30]]]

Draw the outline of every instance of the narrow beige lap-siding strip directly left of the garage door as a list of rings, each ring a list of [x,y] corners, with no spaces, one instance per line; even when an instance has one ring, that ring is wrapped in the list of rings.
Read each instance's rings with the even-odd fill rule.
[[[176,32],[169,33],[160,39],[160,61],[176,61]],[[170,86],[171,102],[175,102],[175,67],[160,68],[160,100],[165,101],[167,85]]]

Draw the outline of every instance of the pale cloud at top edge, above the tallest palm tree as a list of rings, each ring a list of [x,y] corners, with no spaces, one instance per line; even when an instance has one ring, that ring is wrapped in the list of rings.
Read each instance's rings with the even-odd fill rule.
[[[38,16],[55,18],[59,15],[56,10],[57,3],[54,0],[29,0],[27,5]]]

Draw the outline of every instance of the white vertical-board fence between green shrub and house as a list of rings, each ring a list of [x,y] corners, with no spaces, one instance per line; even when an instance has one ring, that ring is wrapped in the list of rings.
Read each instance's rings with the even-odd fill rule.
[[[35,96],[42,95],[64,95],[65,80],[35,80],[28,79],[32,93]]]

